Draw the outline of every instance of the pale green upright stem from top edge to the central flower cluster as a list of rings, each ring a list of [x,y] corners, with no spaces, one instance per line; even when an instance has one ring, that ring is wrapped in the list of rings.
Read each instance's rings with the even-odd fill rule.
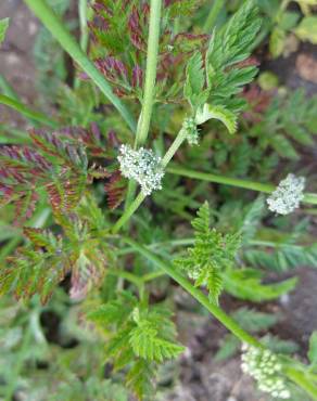
[[[155,94],[162,0],[151,0],[144,98],[139,117],[136,147],[147,141]]]

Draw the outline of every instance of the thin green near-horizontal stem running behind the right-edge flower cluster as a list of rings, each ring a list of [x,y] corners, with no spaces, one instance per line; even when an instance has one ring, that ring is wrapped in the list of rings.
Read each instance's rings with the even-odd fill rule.
[[[180,168],[177,166],[168,167],[166,171],[173,174],[177,174],[177,176],[193,178],[193,179],[208,181],[208,182],[216,182],[218,184],[226,184],[226,185],[231,185],[231,186],[243,187],[245,190],[264,192],[267,194],[271,193],[276,189],[276,186],[271,184],[263,184],[261,182],[255,182],[255,181],[246,181],[246,180],[240,180],[237,178],[231,178],[231,177],[226,177],[226,176],[212,174],[208,172],[188,170],[188,169]],[[317,194],[306,193],[303,202],[306,204],[317,205]]]

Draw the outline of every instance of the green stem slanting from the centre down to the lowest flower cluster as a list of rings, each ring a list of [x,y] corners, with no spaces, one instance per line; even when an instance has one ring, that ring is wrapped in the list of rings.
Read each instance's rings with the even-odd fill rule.
[[[183,289],[186,289],[193,298],[195,298],[203,307],[205,307],[219,322],[224,324],[231,333],[233,333],[242,342],[250,344],[256,348],[264,348],[263,345],[249,333],[244,332],[227,313],[219,307],[210,302],[208,298],[199,289],[195,288],[187,279],[178,273],[173,267],[168,266],[154,254],[152,254],[144,246],[136,243],[135,241],[123,237],[125,243],[130,245],[136,251],[141,254],[147,259],[151,260],[155,266],[162,269],[167,275],[175,280]]]

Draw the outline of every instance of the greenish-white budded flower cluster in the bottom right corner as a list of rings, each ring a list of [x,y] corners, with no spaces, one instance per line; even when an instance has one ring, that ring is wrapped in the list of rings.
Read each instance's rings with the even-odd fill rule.
[[[290,399],[291,393],[281,376],[282,366],[278,358],[269,350],[261,350],[249,345],[242,346],[242,371],[254,377],[258,389],[274,398]]]

